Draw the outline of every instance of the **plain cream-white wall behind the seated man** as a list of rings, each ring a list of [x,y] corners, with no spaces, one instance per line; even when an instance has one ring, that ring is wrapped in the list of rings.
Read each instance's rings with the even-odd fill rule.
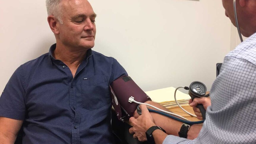
[[[216,0],[89,0],[98,17],[93,50],[116,58],[144,90],[211,88],[230,51],[231,25]],[[2,90],[15,69],[47,53],[54,36],[45,1],[0,1]]]

